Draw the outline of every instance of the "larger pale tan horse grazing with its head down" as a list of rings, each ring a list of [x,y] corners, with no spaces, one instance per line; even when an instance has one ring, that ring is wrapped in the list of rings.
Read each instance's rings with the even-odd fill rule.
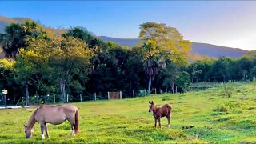
[[[73,105],[62,105],[62,106],[40,106],[34,111],[34,114],[30,116],[27,125],[25,126],[26,138],[31,138],[33,135],[33,127],[35,122],[39,122],[41,127],[42,139],[45,138],[43,132],[46,131],[46,136],[49,138],[48,129],[46,123],[58,125],[66,120],[71,125],[71,135],[78,133],[79,129],[79,114],[78,108]]]

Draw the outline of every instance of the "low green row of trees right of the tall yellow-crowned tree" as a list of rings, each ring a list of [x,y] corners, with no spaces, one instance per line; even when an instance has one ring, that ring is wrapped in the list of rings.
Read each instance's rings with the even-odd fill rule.
[[[190,64],[187,71],[192,82],[252,81],[256,75],[256,57],[245,55],[197,61]]]

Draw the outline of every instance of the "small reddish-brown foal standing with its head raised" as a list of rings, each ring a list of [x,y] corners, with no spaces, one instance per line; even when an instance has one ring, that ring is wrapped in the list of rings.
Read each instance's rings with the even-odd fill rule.
[[[154,102],[149,102],[149,112],[153,111],[154,116],[154,127],[157,127],[157,122],[161,128],[161,118],[166,117],[168,119],[168,128],[170,128],[170,118],[172,106],[170,104],[165,104],[162,107],[157,107]]]

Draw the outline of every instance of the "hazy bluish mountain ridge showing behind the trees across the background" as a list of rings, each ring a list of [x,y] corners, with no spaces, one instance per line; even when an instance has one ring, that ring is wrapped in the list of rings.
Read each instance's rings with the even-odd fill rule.
[[[8,26],[11,22],[22,22],[25,19],[30,18],[22,18],[22,17],[15,17],[15,18],[7,18],[4,16],[0,16],[0,33],[4,33],[5,26]],[[52,27],[45,27],[46,30],[53,31],[56,35],[61,35],[65,32],[65,30],[52,28]],[[108,36],[96,36],[97,38],[102,39],[103,42],[115,42],[118,43],[120,46],[129,46],[134,47],[138,42],[138,38],[113,38]],[[249,50],[242,50],[239,48],[231,48],[228,46],[218,46],[214,44],[208,44],[203,42],[192,42],[192,50],[190,51],[192,54],[199,54],[199,55],[207,55],[209,57],[218,58],[219,56],[226,56],[231,58],[239,58],[242,57],[244,54],[248,54]]]

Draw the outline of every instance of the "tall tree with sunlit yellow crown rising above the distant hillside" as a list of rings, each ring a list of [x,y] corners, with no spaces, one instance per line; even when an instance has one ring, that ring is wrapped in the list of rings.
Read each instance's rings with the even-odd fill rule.
[[[150,93],[151,81],[154,80],[161,67],[166,66],[166,59],[178,65],[186,65],[186,56],[191,42],[183,40],[178,30],[166,24],[146,22],[140,25],[140,29],[140,46],[144,54],[144,70],[149,78]]]

